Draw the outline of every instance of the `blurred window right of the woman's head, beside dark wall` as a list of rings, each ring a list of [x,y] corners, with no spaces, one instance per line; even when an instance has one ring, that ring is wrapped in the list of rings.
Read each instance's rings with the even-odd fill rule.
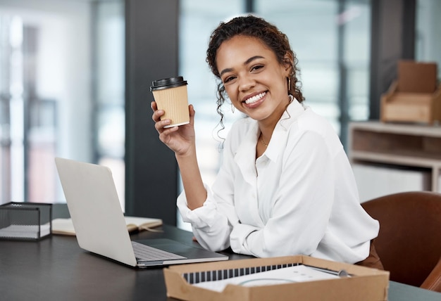
[[[346,142],[350,120],[368,119],[370,1],[256,0],[297,54],[305,105],[326,117]]]

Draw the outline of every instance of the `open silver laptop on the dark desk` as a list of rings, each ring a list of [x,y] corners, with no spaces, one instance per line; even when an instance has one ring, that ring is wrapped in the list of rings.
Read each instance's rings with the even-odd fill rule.
[[[170,239],[131,241],[111,170],[55,158],[80,248],[132,267],[228,260],[228,256]]]

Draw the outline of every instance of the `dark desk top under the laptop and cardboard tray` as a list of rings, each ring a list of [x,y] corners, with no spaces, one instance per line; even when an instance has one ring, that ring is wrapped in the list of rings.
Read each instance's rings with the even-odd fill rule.
[[[132,239],[167,237],[192,241],[192,233],[163,226]],[[247,256],[228,254],[230,259]],[[390,282],[389,300],[440,301],[441,294]],[[133,269],[85,252],[75,237],[39,242],[0,241],[0,300],[173,300],[166,296],[162,269]]]

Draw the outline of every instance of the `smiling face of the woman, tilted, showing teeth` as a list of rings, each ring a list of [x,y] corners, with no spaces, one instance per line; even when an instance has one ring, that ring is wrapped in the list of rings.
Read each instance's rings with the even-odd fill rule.
[[[237,35],[224,41],[216,56],[218,72],[232,104],[259,122],[275,124],[289,103],[289,66],[254,37]]]

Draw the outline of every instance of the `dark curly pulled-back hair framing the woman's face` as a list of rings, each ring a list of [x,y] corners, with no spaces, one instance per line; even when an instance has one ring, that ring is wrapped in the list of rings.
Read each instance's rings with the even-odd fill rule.
[[[275,25],[254,15],[232,18],[232,20],[227,23],[220,23],[218,27],[213,30],[209,41],[209,48],[206,51],[206,62],[209,64],[213,75],[218,79],[221,79],[216,64],[216,56],[219,47],[224,41],[228,41],[237,35],[259,39],[275,53],[280,64],[290,65],[291,73],[290,80],[288,81],[290,83],[290,88],[288,94],[294,96],[300,103],[304,101],[304,96],[301,91],[301,83],[297,78],[297,75],[300,72],[297,67],[297,56],[294,51],[292,51],[290,41],[286,34],[280,32]],[[288,55],[289,58],[287,58],[286,55]],[[290,58],[292,58],[292,60]],[[223,113],[221,107],[225,102],[225,87],[222,82],[218,83],[216,96],[218,98],[217,111],[218,114],[221,115],[221,125],[223,125]]]

